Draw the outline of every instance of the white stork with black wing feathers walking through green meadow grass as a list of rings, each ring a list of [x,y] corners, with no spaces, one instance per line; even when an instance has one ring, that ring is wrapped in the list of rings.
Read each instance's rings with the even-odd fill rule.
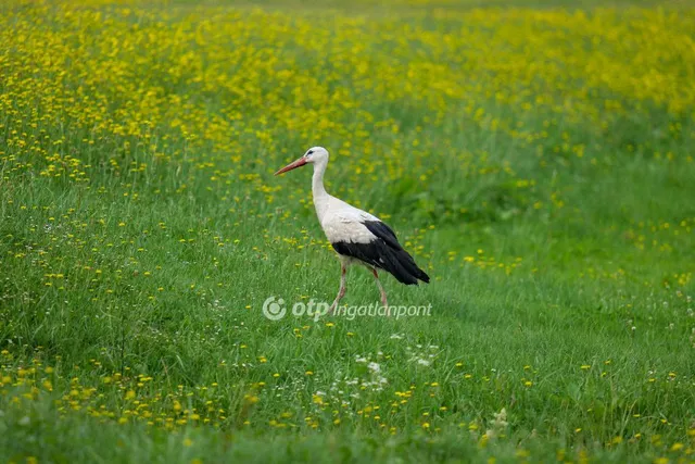
[[[275,175],[287,173],[307,163],[314,164],[312,192],[318,222],[326,238],[340,255],[340,290],[330,306],[331,312],[345,294],[345,272],[353,263],[363,264],[371,269],[381,292],[381,303],[387,308],[389,306],[387,293],[379,281],[377,269],[391,273],[405,285],[417,285],[418,280],[430,281],[425,271],[420,269],[413,256],[401,247],[391,227],[378,217],[328,195],[324,188],[328,150],[323,147],[311,148],[302,158],[282,167]]]

